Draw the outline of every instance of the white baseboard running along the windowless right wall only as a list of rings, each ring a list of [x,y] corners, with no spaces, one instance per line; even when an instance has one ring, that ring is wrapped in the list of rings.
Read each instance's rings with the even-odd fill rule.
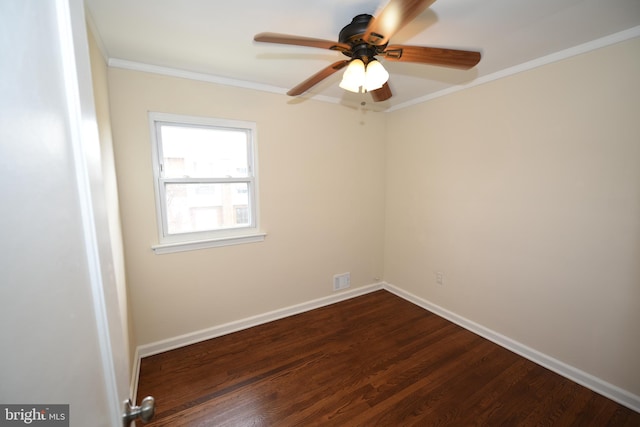
[[[442,308],[391,284],[385,283],[384,289],[409,302],[412,302],[419,307],[424,308],[425,310],[437,314],[438,316],[443,317],[457,324],[458,326],[465,328],[468,331],[480,335],[481,337],[486,338],[501,347],[511,350],[514,353],[519,354],[520,356],[529,359],[540,366],[544,366],[545,368],[559,375],[562,375],[563,377],[568,378],[571,381],[574,381],[584,387],[587,387],[588,389],[595,391],[598,394],[601,394],[615,402],[618,402],[621,405],[628,407],[629,409],[640,412],[640,396],[630,393],[627,390],[623,390],[618,386],[610,384],[578,368],[567,365],[566,363],[561,362],[558,359],[541,353],[531,347],[527,347],[526,345],[519,343],[518,341],[512,340],[511,338],[499,334],[498,332],[495,332],[491,329],[485,328],[478,323],[459,316],[445,308]]]

